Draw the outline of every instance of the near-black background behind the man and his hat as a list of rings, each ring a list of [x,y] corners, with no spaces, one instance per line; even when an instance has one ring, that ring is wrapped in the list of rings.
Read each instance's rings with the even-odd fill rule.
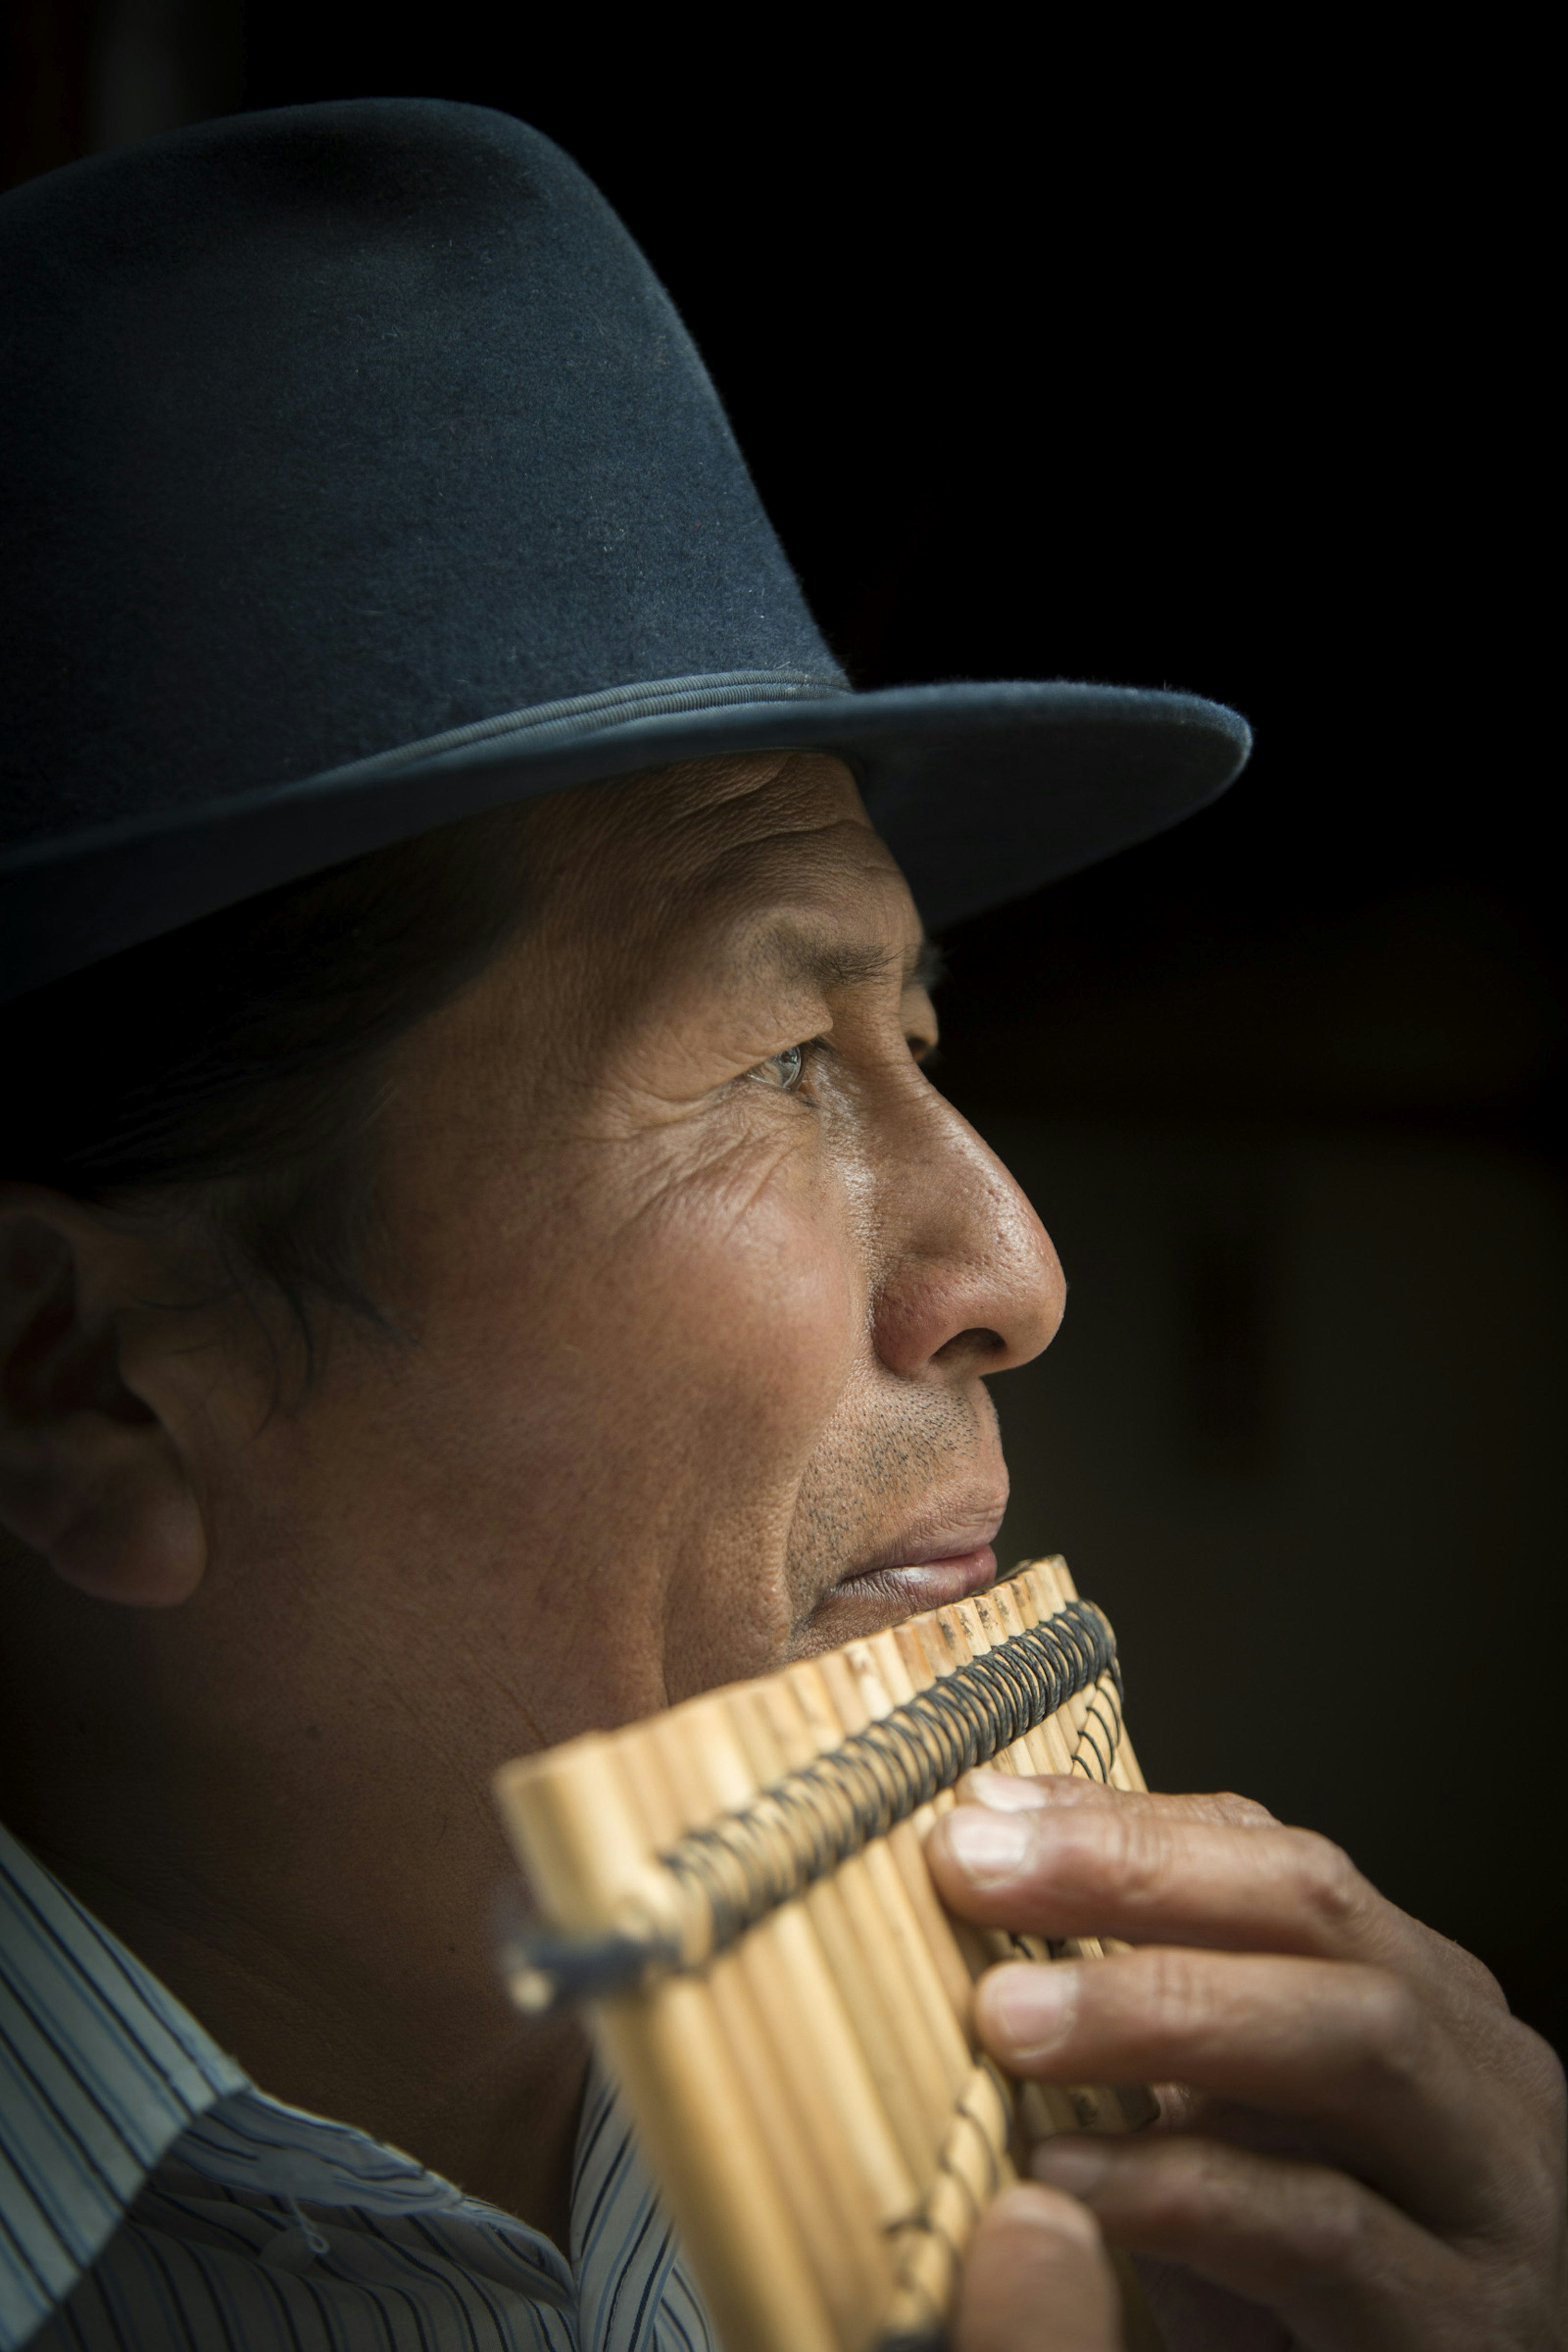
[[[947,941],[938,1077],[1072,1277],[999,1385],[1006,1543],[1112,1611],[1157,1783],[1328,1830],[1561,2046],[1528,61],[578,14],[12,0],[0,160],[296,99],[510,108],[663,273],[860,684],[1253,720],[1220,807]]]

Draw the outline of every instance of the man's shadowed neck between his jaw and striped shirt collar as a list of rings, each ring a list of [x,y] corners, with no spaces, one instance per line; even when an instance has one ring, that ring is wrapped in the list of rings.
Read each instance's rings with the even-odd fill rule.
[[[193,1752],[129,1708],[125,1651],[120,1691],[66,1677],[61,1653],[47,1675],[19,1663],[0,1672],[7,1828],[261,2091],[393,2140],[569,2251],[585,2039],[501,1987],[512,1865],[484,1762],[418,1724],[400,1748],[386,1703],[374,1743],[348,1705],[320,1738],[235,1722],[226,1752]]]

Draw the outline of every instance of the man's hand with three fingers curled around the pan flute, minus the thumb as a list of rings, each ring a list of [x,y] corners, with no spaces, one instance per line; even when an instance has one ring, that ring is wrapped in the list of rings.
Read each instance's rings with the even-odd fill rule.
[[[1262,2324],[1307,2352],[1568,2343],[1563,2072],[1479,1962],[1241,1797],[1006,1773],[959,1795],[926,1842],[954,1912],[1135,1947],[976,1987],[1013,2074],[1161,2084],[1154,2131],[1048,2140],[1041,2180],[1107,2239],[1225,2288],[1237,2340]],[[978,2241],[978,2298],[997,2260]],[[1208,2321],[1192,2340],[1222,2336]],[[994,2343],[1051,2338],[1020,2324]]]

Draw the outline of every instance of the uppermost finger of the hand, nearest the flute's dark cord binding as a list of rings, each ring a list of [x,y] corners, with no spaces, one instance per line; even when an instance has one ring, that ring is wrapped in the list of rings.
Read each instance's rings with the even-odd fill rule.
[[[971,1788],[1004,1778],[973,1776]],[[1215,1799],[1079,1795],[1091,1785],[1013,1778],[1001,1804],[990,1785],[983,1804],[943,1813],[926,1858],[952,1910],[1037,1936],[1309,1952],[1422,1985],[1453,1976],[1455,1947],[1406,1919],[1326,1837],[1197,1811]]]

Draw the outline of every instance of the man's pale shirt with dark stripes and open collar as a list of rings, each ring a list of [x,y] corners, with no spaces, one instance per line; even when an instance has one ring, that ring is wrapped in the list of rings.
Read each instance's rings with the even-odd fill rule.
[[[717,2352],[595,2074],[571,2260],[284,2107],[0,1828],[0,2352]]]

